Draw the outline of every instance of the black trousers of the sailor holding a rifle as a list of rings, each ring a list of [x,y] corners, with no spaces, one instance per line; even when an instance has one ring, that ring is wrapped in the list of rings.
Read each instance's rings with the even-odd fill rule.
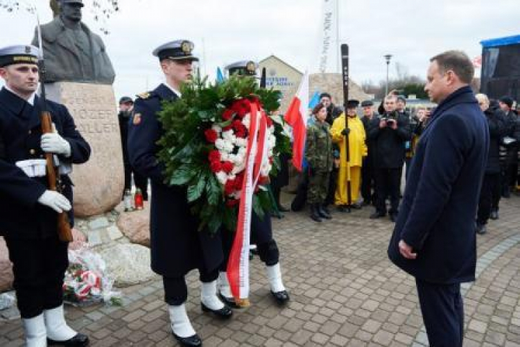
[[[30,319],[63,303],[63,278],[69,258],[67,242],[56,237],[6,237],[21,318]]]

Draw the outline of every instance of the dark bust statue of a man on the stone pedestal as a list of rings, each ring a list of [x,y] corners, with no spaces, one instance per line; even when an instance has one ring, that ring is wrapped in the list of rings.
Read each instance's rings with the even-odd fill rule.
[[[105,44],[81,22],[83,0],[60,0],[58,17],[42,25],[46,83],[112,84],[115,73]],[[37,31],[33,45],[38,46]]]

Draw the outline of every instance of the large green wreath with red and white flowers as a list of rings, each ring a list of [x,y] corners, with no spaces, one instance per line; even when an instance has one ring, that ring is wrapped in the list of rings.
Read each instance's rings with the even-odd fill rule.
[[[197,78],[183,85],[181,92],[181,99],[165,102],[159,113],[164,128],[159,160],[165,166],[166,184],[187,187],[201,230],[216,232],[222,224],[235,230],[251,126],[263,126],[258,138],[252,134],[261,154],[254,162],[252,206],[263,216],[272,207],[269,175],[279,169],[279,154],[290,151],[283,120],[276,113],[280,93],[260,88],[254,78],[244,76],[215,84]]]

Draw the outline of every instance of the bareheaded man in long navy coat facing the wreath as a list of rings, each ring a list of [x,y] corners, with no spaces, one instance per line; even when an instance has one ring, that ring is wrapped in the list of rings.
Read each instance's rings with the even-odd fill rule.
[[[475,280],[475,214],[489,131],[461,51],[431,58],[426,87],[438,103],[406,183],[388,256],[415,277],[430,346],[462,346],[460,283]]]

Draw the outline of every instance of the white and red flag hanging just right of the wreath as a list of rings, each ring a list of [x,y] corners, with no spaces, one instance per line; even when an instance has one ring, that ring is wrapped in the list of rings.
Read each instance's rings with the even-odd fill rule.
[[[304,158],[305,135],[307,131],[307,114],[309,112],[309,73],[305,71],[298,92],[294,96],[284,117],[287,124],[293,127],[293,165],[302,171]]]

